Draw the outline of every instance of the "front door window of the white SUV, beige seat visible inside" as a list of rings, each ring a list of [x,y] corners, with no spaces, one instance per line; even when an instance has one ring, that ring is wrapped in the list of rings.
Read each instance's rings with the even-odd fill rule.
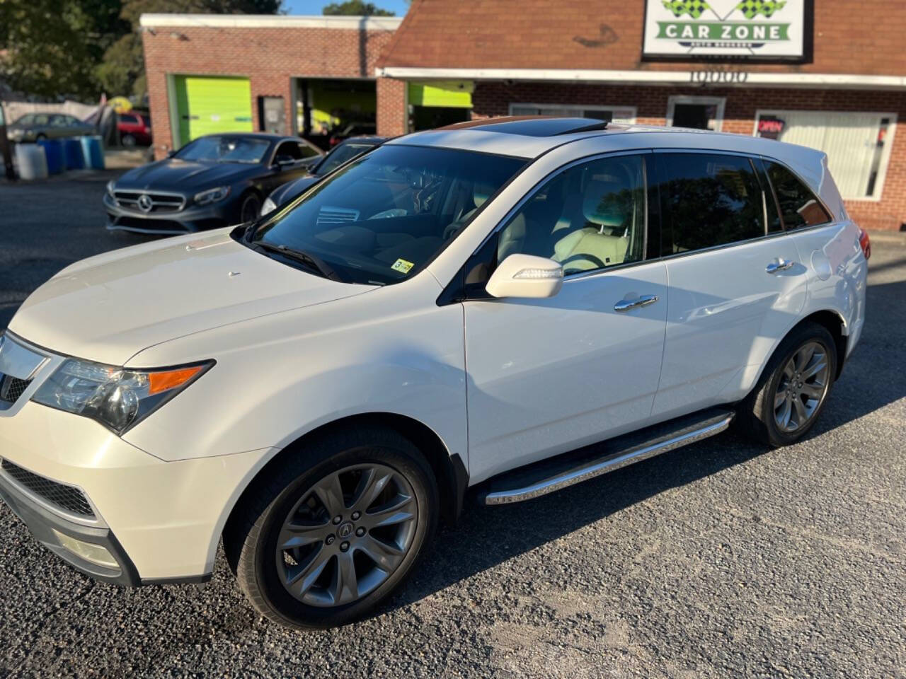
[[[570,167],[535,191],[500,231],[497,262],[535,254],[563,264],[566,274],[638,262],[645,215],[641,156]]]

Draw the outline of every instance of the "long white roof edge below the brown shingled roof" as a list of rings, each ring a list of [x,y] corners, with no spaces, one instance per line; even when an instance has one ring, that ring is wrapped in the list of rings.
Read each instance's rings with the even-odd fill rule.
[[[425,68],[411,66],[379,66],[379,78],[474,81],[557,81],[557,82],[617,82],[623,84],[663,84],[824,88],[842,90],[906,90],[906,77],[899,75],[869,75],[859,73],[804,72],[746,72],[745,78],[734,81],[697,80],[698,71],[603,71],[570,69],[471,69]]]

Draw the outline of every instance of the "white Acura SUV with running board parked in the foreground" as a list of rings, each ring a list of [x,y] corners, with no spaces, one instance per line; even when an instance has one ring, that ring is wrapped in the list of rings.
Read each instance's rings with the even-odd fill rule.
[[[805,435],[866,270],[808,148],[585,119],[413,134],[256,223],[34,292],[0,348],[0,493],[97,578],[203,581],[222,538],[266,617],[342,624],[466,497],[734,417]]]

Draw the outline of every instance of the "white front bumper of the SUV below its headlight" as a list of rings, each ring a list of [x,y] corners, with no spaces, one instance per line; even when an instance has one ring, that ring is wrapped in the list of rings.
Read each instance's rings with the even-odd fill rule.
[[[0,497],[48,549],[92,577],[123,585],[200,582],[214,568],[226,517],[268,452],[164,462],[86,417],[27,401],[0,411],[0,457],[80,489],[93,516],[74,517],[24,493],[2,468]],[[54,530],[103,546],[118,567],[80,559]]]

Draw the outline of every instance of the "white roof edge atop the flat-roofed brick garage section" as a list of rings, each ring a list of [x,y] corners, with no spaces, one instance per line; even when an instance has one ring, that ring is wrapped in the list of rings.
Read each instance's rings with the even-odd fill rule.
[[[161,28],[329,28],[366,31],[395,31],[401,16],[343,16],[289,14],[142,14],[141,26]]]

